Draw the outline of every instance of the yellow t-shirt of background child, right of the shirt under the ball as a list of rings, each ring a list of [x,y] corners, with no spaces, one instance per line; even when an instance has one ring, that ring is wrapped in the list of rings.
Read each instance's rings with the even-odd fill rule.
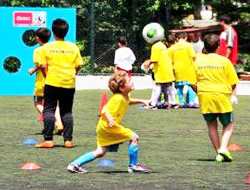
[[[189,81],[193,58],[196,56],[192,44],[180,40],[170,47],[176,82]]]

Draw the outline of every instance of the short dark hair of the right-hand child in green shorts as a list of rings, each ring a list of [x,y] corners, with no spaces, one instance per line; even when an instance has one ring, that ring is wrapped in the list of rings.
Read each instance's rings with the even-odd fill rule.
[[[217,34],[207,34],[204,37],[204,48],[207,53],[214,53],[220,45],[220,40]]]

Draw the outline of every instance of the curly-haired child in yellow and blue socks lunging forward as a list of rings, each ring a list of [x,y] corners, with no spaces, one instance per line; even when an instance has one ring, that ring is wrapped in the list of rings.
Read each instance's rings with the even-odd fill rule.
[[[82,165],[103,157],[108,151],[117,152],[119,144],[129,141],[128,172],[148,173],[150,170],[137,162],[138,135],[131,129],[121,125],[122,119],[131,104],[142,103],[148,105],[148,100],[133,99],[130,92],[133,90],[131,77],[125,71],[117,71],[109,80],[109,88],[114,93],[103,107],[101,117],[97,123],[97,148],[93,152],[83,154],[72,161],[67,170],[73,173],[86,173]]]

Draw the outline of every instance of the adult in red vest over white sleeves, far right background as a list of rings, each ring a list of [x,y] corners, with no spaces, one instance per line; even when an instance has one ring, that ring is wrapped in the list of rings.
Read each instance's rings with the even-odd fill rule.
[[[223,31],[220,34],[220,46],[218,53],[227,57],[234,66],[236,66],[238,61],[238,35],[236,30],[231,25],[231,19],[228,16],[219,17]],[[236,88],[231,96],[231,102],[233,104],[238,104],[238,99],[236,97]]]

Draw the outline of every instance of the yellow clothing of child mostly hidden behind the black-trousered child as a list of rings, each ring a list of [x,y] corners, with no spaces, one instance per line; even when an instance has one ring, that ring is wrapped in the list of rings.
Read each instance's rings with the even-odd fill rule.
[[[43,52],[42,52],[41,46],[34,50],[33,61],[37,67],[41,66],[42,53]],[[44,95],[44,82],[45,82],[45,77],[43,76],[41,69],[38,69],[36,72],[34,96],[43,96]]]

